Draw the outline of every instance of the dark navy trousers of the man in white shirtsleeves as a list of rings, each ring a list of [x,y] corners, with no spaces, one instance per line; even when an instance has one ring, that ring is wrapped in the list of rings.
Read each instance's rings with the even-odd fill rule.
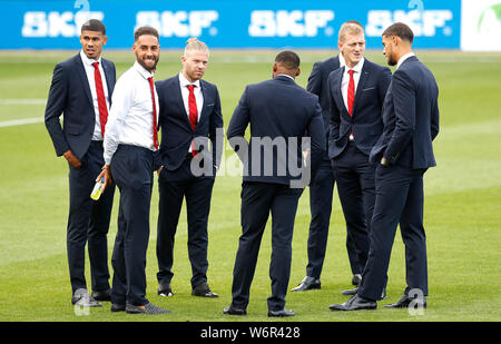
[[[153,151],[119,145],[111,159],[111,175],[120,189],[118,232],[111,265],[111,301],[139,306],[146,299],[146,250],[153,187]]]

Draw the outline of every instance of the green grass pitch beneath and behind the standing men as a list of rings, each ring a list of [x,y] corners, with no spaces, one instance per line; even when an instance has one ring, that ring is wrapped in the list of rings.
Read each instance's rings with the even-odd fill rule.
[[[76,51],[0,52],[0,321],[2,322],[266,322],[271,294],[269,225],[266,229],[248,315],[223,315],[230,303],[233,265],[240,234],[240,177],[219,176],[209,217],[208,283],[216,299],[190,295],[191,269],[186,247],[186,213],[176,236],[174,297],[156,295],[157,181],[151,199],[151,234],[147,257],[147,297],[173,311],[161,316],[112,314],[109,303],[78,315],[70,303],[66,258],[68,167],[57,158],[42,122],[53,66]],[[212,52],[205,79],[219,88],[225,128],[245,85],[272,75],[275,50]],[[327,50],[298,50],[306,86],[313,62],[331,57]],[[345,223],[337,194],[331,217],[322,289],[289,293],[294,322],[499,322],[501,321],[501,53],[416,51],[440,86],[441,131],[434,142],[438,167],[425,175],[425,229],[430,296],[422,315],[385,309],[405,287],[404,246],[395,237],[389,271],[389,298],[373,312],[333,313],[328,305],[346,299],[351,287],[345,248]],[[134,62],[131,51],[105,50],[120,76]],[[385,63],[381,51],[367,57]],[[165,50],[156,79],[180,70],[180,51]],[[33,124],[12,120],[36,118]],[[232,155],[229,147],[226,157]],[[118,191],[108,236],[111,253],[117,232]],[[305,275],[310,224],[308,191],[296,216],[289,288]],[[88,262],[88,261],[87,261]],[[88,263],[87,263],[88,267]],[[90,276],[88,283],[90,283]],[[90,288],[90,286],[89,286]],[[288,322],[289,320],[285,320]]]

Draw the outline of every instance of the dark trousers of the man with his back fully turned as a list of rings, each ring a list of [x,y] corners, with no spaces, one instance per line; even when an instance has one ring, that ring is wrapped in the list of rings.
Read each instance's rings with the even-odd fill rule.
[[[272,262],[269,277],[272,296],[268,309],[279,311],[285,306],[291,276],[292,238],[297,203],[302,189],[288,185],[244,181],[242,187],[242,236],[233,271],[232,305],[247,308],[250,284],[256,268],[261,240],[272,213]]]

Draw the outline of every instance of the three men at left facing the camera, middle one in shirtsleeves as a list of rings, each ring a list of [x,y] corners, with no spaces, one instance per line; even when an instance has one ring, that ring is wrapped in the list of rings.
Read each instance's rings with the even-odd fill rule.
[[[70,168],[67,247],[71,302],[95,307],[101,306],[101,301],[111,301],[111,312],[169,313],[146,298],[146,252],[155,170],[159,175],[160,195],[158,294],[173,295],[174,237],[186,198],[191,294],[217,297],[207,284],[207,220],[223,151],[223,137],[218,137],[223,136],[223,116],[216,86],[202,80],[209,56],[207,46],[190,39],[181,57],[179,75],[155,82],[159,35],[150,27],[138,28],[132,46],[136,62],[116,82],[114,63],[101,57],[106,41],[101,21],[91,19],[81,27],[82,49],[56,66],[46,108],[46,126],[56,153],[67,158]],[[158,130],[161,130],[161,142]],[[195,174],[194,165],[205,165],[209,173]],[[101,178],[105,179],[102,195],[92,200],[90,191]],[[120,190],[120,203],[110,287],[107,233],[115,185]],[[92,279],[90,295],[85,278],[87,243]]]

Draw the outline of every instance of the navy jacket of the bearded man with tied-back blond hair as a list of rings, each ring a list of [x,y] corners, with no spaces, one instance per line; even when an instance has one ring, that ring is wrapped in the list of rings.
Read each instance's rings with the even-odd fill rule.
[[[208,157],[212,160],[215,173],[220,164],[224,145],[223,115],[217,87],[200,79],[204,105],[194,131],[183,102],[179,76],[157,81],[155,86],[160,107],[159,128],[161,129],[159,160],[156,164],[163,165],[167,170],[178,169],[195,139],[197,150],[205,157],[204,159]],[[212,144],[210,153],[208,140]],[[210,155],[207,156],[208,154]]]

